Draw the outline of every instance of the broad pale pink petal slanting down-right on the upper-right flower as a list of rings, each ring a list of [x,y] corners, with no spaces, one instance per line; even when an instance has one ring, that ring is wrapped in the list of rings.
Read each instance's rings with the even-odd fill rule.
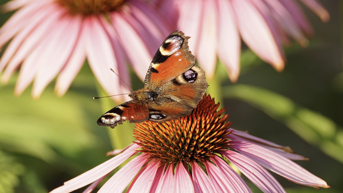
[[[283,51],[272,21],[264,16],[268,13],[260,0],[232,0],[240,35],[244,42],[263,60],[276,70],[284,69]],[[261,11],[260,11],[261,10]]]

